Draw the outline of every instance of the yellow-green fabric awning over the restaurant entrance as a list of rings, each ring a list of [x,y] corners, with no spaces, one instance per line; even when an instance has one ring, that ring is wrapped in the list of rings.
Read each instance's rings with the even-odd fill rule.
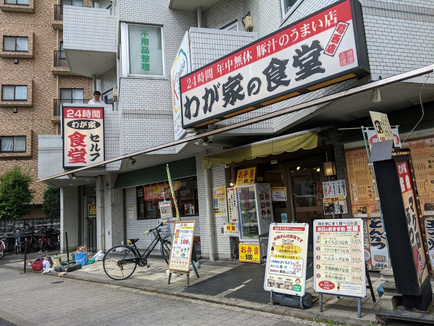
[[[203,168],[211,166],[253,160],[255,157],[277,155],[283,152],[295,152],[299,149],[310,150],[318,143],[318,130],[306,130],[299,133],[292,133],[257,143],[225,150],[223,152],[204,156],[202,159]]]

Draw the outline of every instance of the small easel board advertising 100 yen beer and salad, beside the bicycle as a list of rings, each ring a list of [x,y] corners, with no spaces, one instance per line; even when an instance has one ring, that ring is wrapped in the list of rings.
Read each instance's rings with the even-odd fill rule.
[[[194,238],[195,221],[174,223],[172,248],[170,249],[169,269],[181,272],[190,271],[191,250]]]

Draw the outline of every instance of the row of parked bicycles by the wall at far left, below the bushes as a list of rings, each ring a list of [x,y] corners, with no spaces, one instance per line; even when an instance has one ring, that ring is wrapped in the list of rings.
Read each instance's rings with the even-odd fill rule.
[[[6,252],[11,252],[12,248],[16,254],[24,253],[25,241],[27,241],[27,253],[30,251],[45,252],[53,249],[60,249],[60,229],[50,227],[48,229],[25,228],[0,235],[0,259]]]

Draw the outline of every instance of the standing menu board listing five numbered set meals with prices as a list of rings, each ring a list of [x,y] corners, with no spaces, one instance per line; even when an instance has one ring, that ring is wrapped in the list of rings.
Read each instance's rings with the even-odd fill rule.
[[[366,296],[362,219],[315,220],[314,290]]]

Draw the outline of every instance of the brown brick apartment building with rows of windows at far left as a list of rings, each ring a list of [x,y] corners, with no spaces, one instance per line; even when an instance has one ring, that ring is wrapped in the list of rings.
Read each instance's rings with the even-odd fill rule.
[[[38,135],[60,132],[60,103],[87,103],[92,79],[72,73],[63,52],[63,4],[90,1],[2,0],[0,3],[0,174],[19,165],[32,176],[30,216],[42,217],[46,185],[38,176]]]

